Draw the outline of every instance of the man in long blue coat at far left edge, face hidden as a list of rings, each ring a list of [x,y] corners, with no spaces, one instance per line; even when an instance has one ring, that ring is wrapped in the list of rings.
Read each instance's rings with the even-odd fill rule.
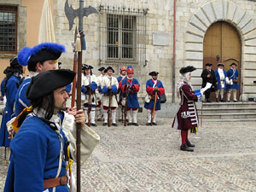
[[[6,123],[11,119],[14,113],[15,95],[18,90],[20,77],[22,77],[22,67],[17,61],[17,57],[10,60],[10,67],[6,70],[6,78],[3,82],[3,92],[6,96],[6,104],[3,110],[3,118],[0,129],[0,147],[9,147],[10,139]]]

